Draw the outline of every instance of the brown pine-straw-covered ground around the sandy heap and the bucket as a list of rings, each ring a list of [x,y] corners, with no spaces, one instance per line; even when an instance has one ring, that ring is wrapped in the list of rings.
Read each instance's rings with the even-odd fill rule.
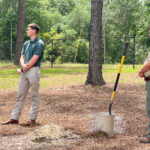
[[[38,124],[26,127],[29,118],[30,94],[24,104],[19,125],[0,125],[0,149],[2,145],[20,140],[20,149],[45,150],[150,150],[150,145],[139,143],[147,134],[147,113],[145,110],[145,87],[138,84],[119,84],[113,112],[126,120],[124,134],[114,134],[112,138],[89,133],[89,115],[93,112],[108,111],[108,104],[113,91],[112,83],[102,87],[76,85],[63,88],[41,90],[41,107]],[[0,91],[0,116],[2,120],[10,119],[15,104],[16,91]],[[71,130],[81,137],[72,144],[49,145],[47,143],[31,144],[28,134],[47,124],[55,124],[65,130]],[[30,145],[27,148],[25,145]],[[65,146],[66,145],[66,146]],[[4,148],[3,148],[4,149]],[[6,146],[6,150],[8,147]],[[15,149],[15,148],[14,148]]]

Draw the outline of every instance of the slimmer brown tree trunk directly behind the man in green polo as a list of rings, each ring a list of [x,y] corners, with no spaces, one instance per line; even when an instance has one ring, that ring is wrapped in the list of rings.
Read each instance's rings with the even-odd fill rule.
[[[21,50],[24,42],[24,22],[25,22],[25,0],[18,0],[18,22],[16,35],[16,52],[14,64],[20,64]]]

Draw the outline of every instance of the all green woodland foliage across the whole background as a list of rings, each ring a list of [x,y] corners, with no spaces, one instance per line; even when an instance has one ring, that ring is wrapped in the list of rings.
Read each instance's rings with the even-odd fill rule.
[[[129,36],[137,36],[136,63],[142,63],[150,46],[149,0],[104,0],[103,12],[107,63],[120,63],[126,40],[130,42],[130,46],[125,63],[133,63],[133,39],[121,38]],[[17,0],[0,1],[0,60],[11,58],[11,36],[12,56],[15,54],[17,16]],[[88,63],[90,17],[91,0],[26,0],[24,31],[26,31],[27,24],[31,22],[40,25],[39,37],[45,42],[43,60],[49,60],[52,64],[74,62],[76,51],[78,51],[76,61]],[[78,45],[74,38],[79,38],[80,30],[82,30],[81,37],[84,39],[80,40]],[[27,39],[25,34],[25,40]]]

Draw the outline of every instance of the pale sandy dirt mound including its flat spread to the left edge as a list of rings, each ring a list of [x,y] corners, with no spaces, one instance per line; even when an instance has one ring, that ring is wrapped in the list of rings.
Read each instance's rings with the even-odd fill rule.
[[[27,135],[1,137],[0,150],[49,150],[51,147],[67,147],[80,142],[80,135],[71,130],[48,124]]]

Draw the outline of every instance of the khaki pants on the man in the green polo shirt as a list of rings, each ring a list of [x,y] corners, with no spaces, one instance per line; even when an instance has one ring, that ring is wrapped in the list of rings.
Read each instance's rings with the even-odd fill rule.
[[[32,67],[27,72],[21,74],[19,80],[19,89],[16,98],[16,105],[12,111],[11,119],[19,120],[21,115],[22,107],[26,95],[28,94],[29,88],[31,88],[31,109],[30,109],[30,119],[36,120],[39,105],[40,105],[40,94],[39,94],[39,84],[40,84],[40,67]]]

